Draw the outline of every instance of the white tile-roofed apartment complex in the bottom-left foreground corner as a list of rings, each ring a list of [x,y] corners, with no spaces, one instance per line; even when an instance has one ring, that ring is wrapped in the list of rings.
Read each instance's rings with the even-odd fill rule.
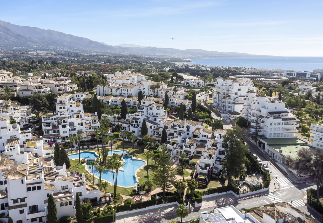
[[[0,160],[1,213],[9,214],[14,222],[46,222],[50,194],[54,197],[58,218],[75,215],[76,193],[81,200],[99,200],[98,180],[87,185],[84,174],[70,173],[65,165],[56,167],[53,160],[48,165],[39,158],[34,160],[28,158],[20,165],[15,164],[14,156]]]

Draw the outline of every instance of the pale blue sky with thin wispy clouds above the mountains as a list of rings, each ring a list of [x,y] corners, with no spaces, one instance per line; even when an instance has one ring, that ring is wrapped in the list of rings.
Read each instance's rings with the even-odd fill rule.
[[[1,3],[0,20],[109,45],[323,56],[322,0],[14,2]]]

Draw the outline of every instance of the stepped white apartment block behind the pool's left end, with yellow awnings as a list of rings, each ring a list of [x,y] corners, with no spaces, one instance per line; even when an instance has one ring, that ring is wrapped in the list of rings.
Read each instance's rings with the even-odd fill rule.
[[[80,134],[86,139],[87,133],[99,128],[98,116],[85,113],[81,103],[69,101],[62,95],[56,100],[56,113],[42,117],[45,143],[53,140],[68,141],[69,134]]]

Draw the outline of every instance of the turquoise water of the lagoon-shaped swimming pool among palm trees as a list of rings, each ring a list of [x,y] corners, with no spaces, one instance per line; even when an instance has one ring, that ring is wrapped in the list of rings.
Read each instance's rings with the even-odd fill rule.
[[[124,151],[126,153],[127,151]],[[118,153],[122,154],[122,150],[113,150],[113,153]],[[109,155],[111,155],[111,150],[109,151]],[[78,159],[78,153],[68,155],[69,159]],[[83,151],[80,153],[80,157],[83,159],[95,159],[98,157],[98,155],[95,154],[95,152],[91,151]],[[134,186],[135,183],[138,183],[135,177],[135,172],[145,164],[143,160],[136,160],[132,159],[130,156],[123,156],[122,157],[125,161],[123,162],[123,169],[118,170],[118,181],[117,185],[118,186],[123,186],[123,187],[131,187]],[[89,169],[89,168],[88,168]],[[96,170],[94,167],[94,175],[98,178],[100,178],[99,172]],[[114,179],[116,178],[116,171],[113,171]],[[105,179],[109,181],[110,183],[113,182],[113,176],[112,176],[112,171],[110,170],[105,170],[102,175],[102,179]]]

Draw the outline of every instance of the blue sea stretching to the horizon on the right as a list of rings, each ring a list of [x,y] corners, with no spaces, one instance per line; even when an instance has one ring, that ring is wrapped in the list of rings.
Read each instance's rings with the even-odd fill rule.
[[[323,57],[218,57],[191,59],[188,64],[313,71],[323,69]]]

